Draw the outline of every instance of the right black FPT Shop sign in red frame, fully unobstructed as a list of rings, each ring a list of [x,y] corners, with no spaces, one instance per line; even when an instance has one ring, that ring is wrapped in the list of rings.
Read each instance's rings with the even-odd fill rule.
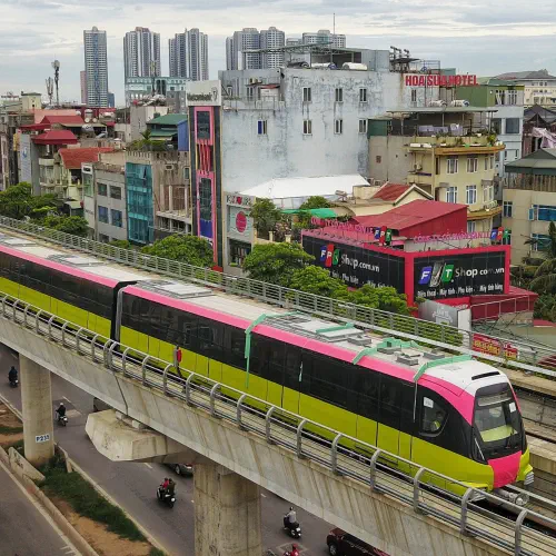
[[[414,296],[446,299],[504,294],[506,252],[424,257],[415,261]]]

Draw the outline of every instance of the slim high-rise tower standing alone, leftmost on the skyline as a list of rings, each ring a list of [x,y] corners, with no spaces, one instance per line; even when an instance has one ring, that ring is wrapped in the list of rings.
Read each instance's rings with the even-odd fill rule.
[[[106,31],[83,31],[87,106],[108,107],[108,60]]]

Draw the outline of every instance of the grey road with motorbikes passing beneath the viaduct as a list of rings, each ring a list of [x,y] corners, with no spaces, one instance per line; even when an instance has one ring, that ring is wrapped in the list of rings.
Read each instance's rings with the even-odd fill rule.
[[[0,369],[6,369],[7,375],[11,365],[18,367],[17,357],[0,345]],[[69,420],[66,428],[54,427],[54,437],[60,446],[155,538],[160,542],[163,539],[163,546],[172,555],[192,556],[192,478],[175,477],[173,471],[159,464],[113,463],[105,458],[85,433],[87,416],[92,411],[92,397],[53,374],[51,377],[52,404],[58,406],[63,401]],[[0,393],[21,409],[20,389],[10,388],[7,376],[4,378],[0,379]],[[173,509],[159,505],[156,499],[158,485],[169,474],[178,485],[178,500]],[[266,490],[261,497],[264,547],[281,556],[291,547],[290,537],[281,529],[282,516],[290,504]],[[297,510],[297,516],[304,532],[301,543],[298,543],[300,552],[307,556],[327,554],[326,536],[332,526],[302,509]]]

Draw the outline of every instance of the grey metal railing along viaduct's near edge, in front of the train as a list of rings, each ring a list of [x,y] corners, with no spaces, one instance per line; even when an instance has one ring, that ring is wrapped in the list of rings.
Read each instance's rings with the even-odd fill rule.
[[[206,376],[182,368],[180,374],[187,375],[187,379],[173,376],[169,373],[173,365],[168,361],[109,338],[101,338],[98,334],[56,315],[38,311],[31,304],[4,292],[0,292],[0,299],[1,317],[30,334],[48,337],[50,341],[75,350],[80,357],[89,356],[93,364],[102,365],[115,374],[155,388],[162,395],[182,400],[192,407],[200,407],[210,416],[226,419],[242,430],[265,438],[269,444],[279,445],[299,457],[317,461],[336,475],[365,484],[373,492],[388,494],[413,507],[416,513],[450,524],[457,530],[483,538],[516,555],[536,556],[550,554],[550,550],[552,554],[556,553],[556,520],[538,512],[471,488],[451,477]],[[99,349],[103,354],[102,358],[97,355]],[[129,356],[130,350],[132,357]],[[221,386],[226,386],[226,394],[221,393]],[[311,428],[319,431],[318,436],[310,431]],[[349,448],[354,445],[359,449]],[[387,465],[388,461],[397,463],[399,468],[409,469],[409,473],[391,469]],[[451,489],[443,490],[438,487],[439,483],[450,485]],[[454,488],[458,488],[463,494],[454,494]],[[518,517],[512,520],[480,508],[470,502],[474,496],[486,498],[495,505],[504,505]],[[552,533],[528,527],[527,518],[542,523]]]

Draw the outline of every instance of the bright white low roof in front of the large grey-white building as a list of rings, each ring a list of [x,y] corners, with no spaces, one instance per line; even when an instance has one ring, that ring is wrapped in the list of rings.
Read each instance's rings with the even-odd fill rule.
[[[347,195],[351,195],[354,187],[368,185],[369,182],[359,173],[349,173],[341,176],[316,176],[311,178],[271,179],[270,181],[265,181],[238,192],[266,199],[302,198],[317,195],[334,197],[336,196],[336,191],[344,191]]]

